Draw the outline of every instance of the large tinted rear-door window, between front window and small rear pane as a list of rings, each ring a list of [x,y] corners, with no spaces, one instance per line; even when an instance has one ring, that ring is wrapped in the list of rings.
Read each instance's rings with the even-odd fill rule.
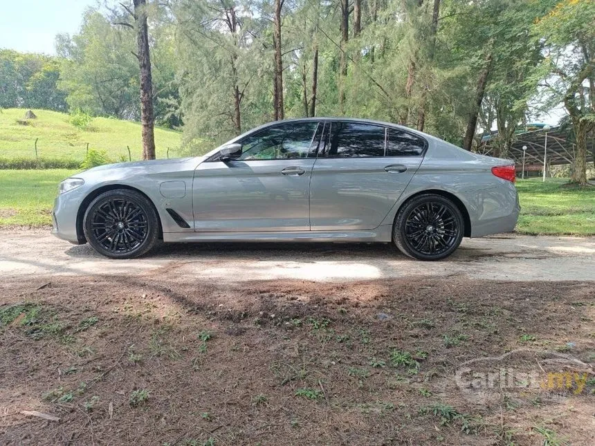
[[[333,122],[327,156],[330,158],[384,156],[384,143],[384,127],[356,122]]]

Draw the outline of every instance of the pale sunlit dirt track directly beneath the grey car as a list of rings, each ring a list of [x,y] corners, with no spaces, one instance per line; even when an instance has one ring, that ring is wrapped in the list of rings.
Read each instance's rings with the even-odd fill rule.
[[[47,230],[0,230],[0,278],[37,275],[151,275],[221,282],[270,279],[353,281],[449,277],[497,280],[593,280],[595,237],[502,234],[464,239],[446,261],[413,261],[390,244],[165,244],[134,260],[114,261],[89,245]]]

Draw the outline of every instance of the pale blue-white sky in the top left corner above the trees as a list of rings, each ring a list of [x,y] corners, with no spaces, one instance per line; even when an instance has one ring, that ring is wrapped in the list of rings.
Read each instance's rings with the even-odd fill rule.
[[[0,0],[0,48],[55,54],[59,33],[78,31],[82,12],[97,0]]]

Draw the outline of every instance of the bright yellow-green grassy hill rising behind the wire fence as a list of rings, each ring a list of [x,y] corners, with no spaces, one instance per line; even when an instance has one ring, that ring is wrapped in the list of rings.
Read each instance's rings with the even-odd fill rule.
[[[93,118],[84,128],[71,124],[71,116],[66,113],[48,110],[33,110],[37,119],[28,120],[27,125],[19,124],[24,120],[26,109],[0,109],[0,157],[17,156],[35,157],[35,138],[39,156],[46,158],[62,157],[82,160],[86,152],[86,143],[90,149],[107,151],[108,156],[120,160],[128,158],[130,147],[133,160],[142,156],[140,143],[140,123],[113,118]],[[170,129],[155,129],[157,158],[180,156],[181,133]]]

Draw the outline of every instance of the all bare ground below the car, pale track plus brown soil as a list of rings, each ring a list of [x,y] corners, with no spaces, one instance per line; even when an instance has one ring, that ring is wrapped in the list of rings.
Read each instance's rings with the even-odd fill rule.
[[[593,239],[111,262],[6,235],[0,444],[595,443]]]

